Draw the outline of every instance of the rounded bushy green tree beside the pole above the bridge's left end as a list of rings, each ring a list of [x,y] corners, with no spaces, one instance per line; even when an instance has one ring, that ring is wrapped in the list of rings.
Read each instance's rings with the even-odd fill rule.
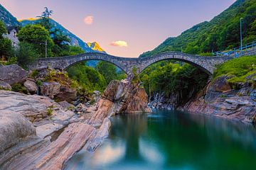
[[[46,42],[48,56],[52,56],[51,48],[54,46],[53,40],[50,38],[50,33],[46,28],[40,25],[28,25],[18,32],[18,39],[21,42],[28,42],[33,45],[33,48],[38,55],[44,57],[46,55]]]

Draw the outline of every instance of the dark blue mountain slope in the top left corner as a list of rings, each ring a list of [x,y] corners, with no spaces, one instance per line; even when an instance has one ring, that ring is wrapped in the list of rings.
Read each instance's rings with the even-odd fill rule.
[[[17,21],[17,19],[9,13],[9,11],[1,6],[0,4],[0,20],[4,22],[6,26],[21,26],[21,23]]]

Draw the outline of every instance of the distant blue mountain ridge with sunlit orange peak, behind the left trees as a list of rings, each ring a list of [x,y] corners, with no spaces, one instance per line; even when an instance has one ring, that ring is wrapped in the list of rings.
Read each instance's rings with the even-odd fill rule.
[[[26,26],[28,24],[36,24],[36,23],[38,23],[38,19],[30,18],[30,19],[27,19],[27,20],[22,20],[20,22],[21,22],[22,26]],[[103,52],[103,53],[105,53],[105,51],[100,48],[100,45],[97,44],[98,48],[101,49],[101,50],[92,49],[91,47],[89,47],[87,45],[86,42],[83,42],[80,38],[78,38],[76,35],[71,33],[69,30],[67,30],[66,28],[61,26],[60,23],[54,21],[53,19],[50,19],[50,23],[53,24],[53,26],[55,28],[58,28],[59,30],[61,30],[64,35],[67,35],[68,38],[70,38],[70,45],[78,45],[85,52]]]

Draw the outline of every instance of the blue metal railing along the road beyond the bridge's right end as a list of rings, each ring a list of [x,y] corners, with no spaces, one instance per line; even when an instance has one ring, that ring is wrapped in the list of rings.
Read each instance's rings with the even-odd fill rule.
[[[240,57],[240,56],[246,55],[247,52],[250,52],[251,50],[256,50],[256,41],[243,45],[242,49],[241,47],[235,47],[232,50],[213,52],[213,55],[222,56],[222,57],[223,56],[224,57],[225,56]]]

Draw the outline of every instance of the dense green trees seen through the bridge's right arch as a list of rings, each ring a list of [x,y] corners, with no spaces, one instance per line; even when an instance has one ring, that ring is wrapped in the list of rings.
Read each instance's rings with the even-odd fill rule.
[[[188,99],[206,86],[208,75],[189,64],[158,62],[146,68],[140,74],[140,80],[147,94],[165,94],[178,96],[180,103]]]

